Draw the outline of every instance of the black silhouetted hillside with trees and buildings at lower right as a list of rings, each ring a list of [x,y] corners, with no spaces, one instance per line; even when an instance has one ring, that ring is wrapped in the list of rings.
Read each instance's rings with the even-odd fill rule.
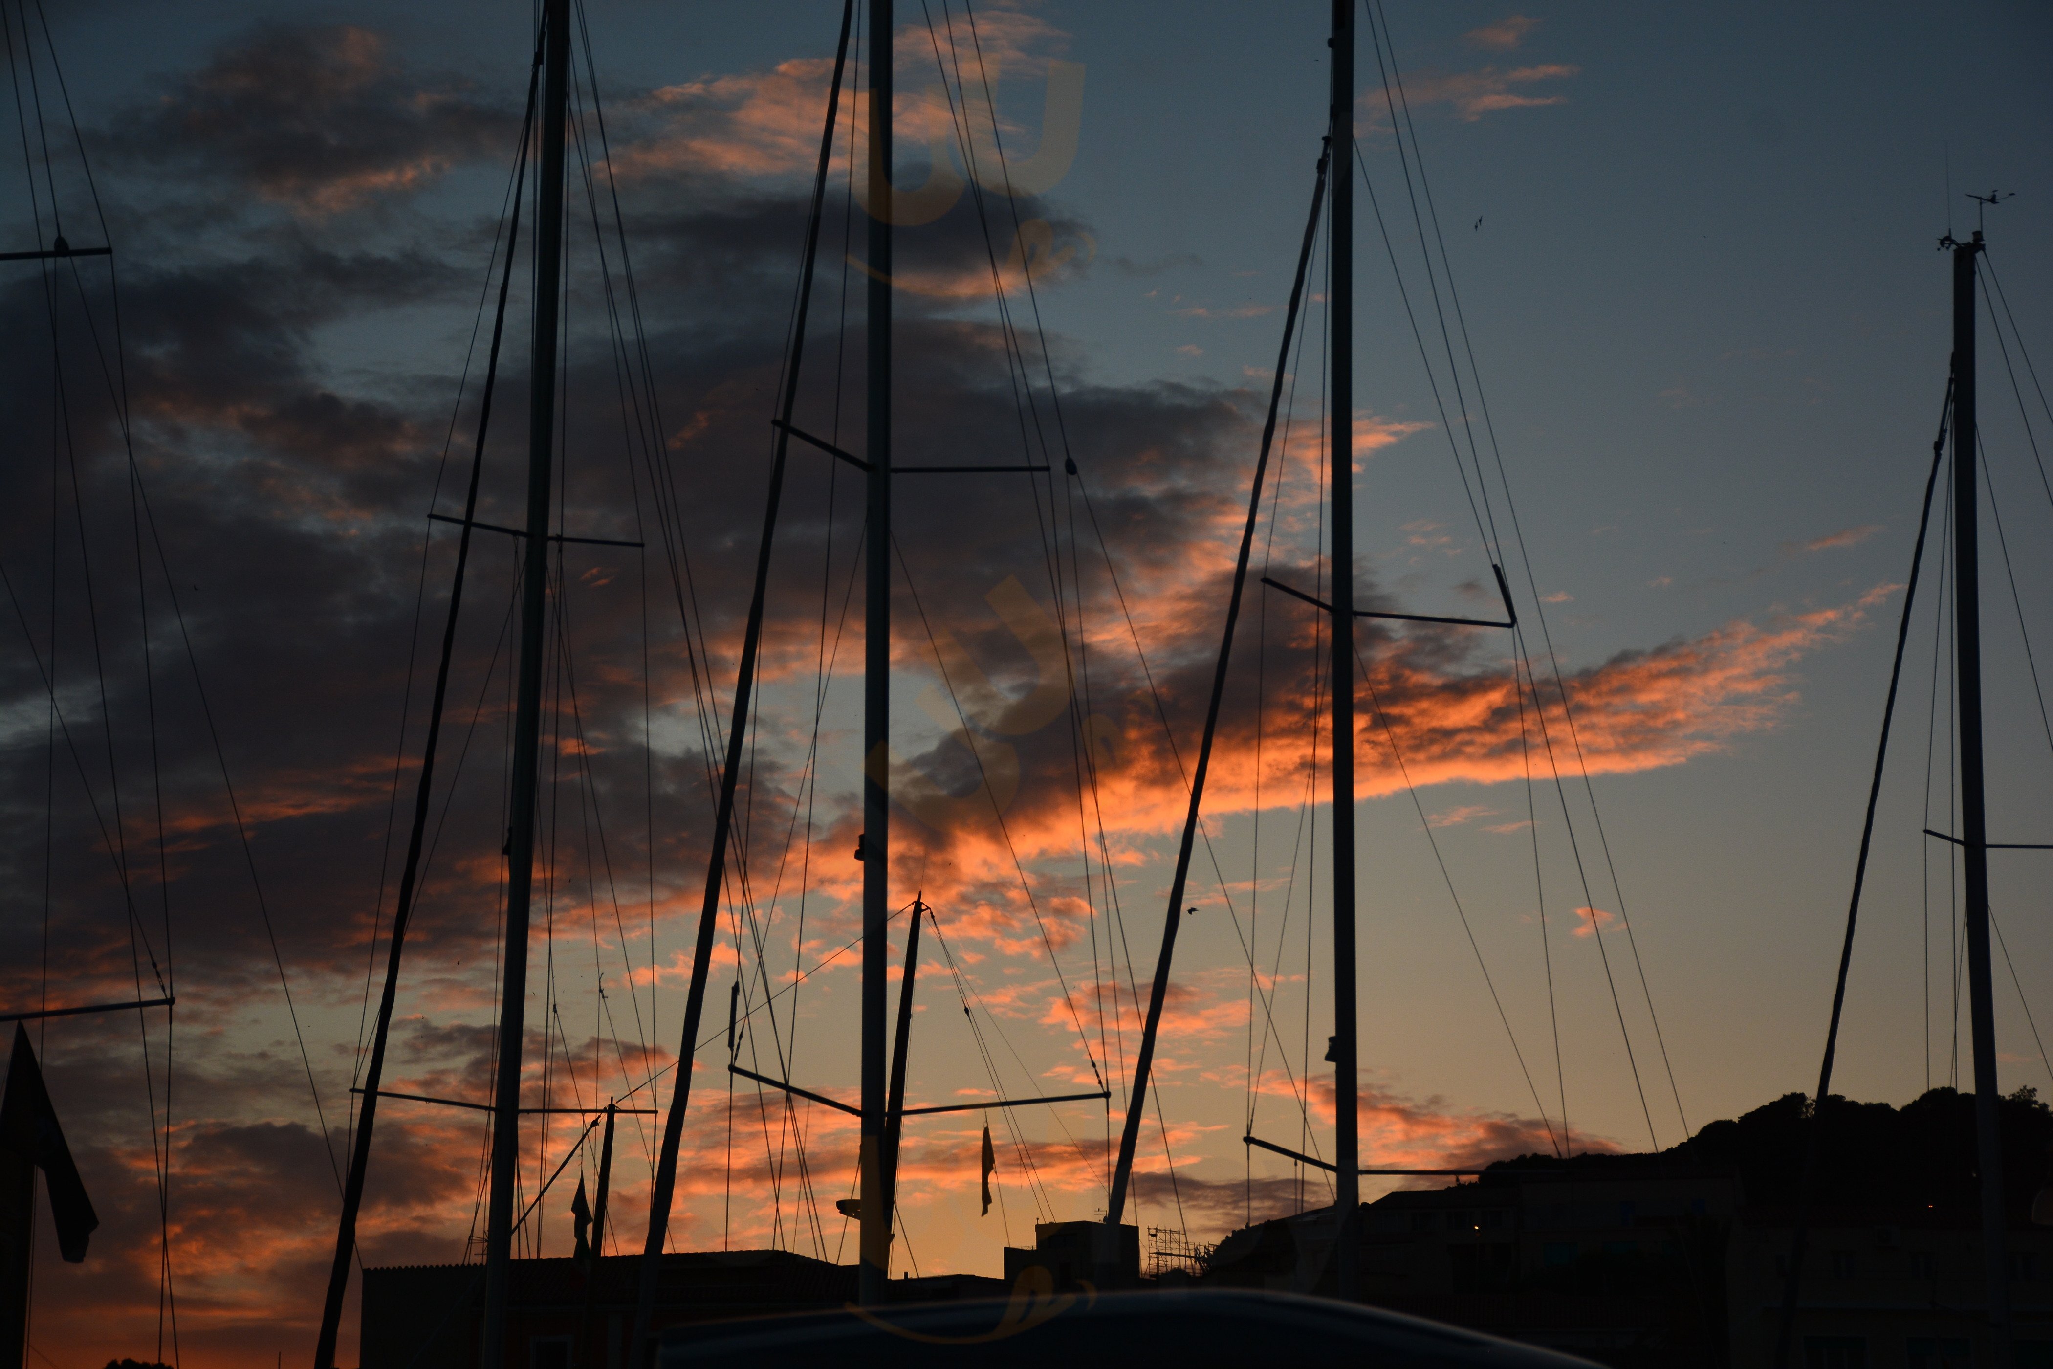
[[[2053,1112],[2000,1106],[2018,1369],[2053,1369]],[[1480,1182],[1361,1209],[1361,1295],[1398,1312],[1573,1351],[1618,1369],[1774,1363],[1803,1158],[1817,1125],[1813,1234],[1790,1363],[1989,1369],[1975,1100],[1893,1108],[1788,1094],[1659,1156],[1523,1156]],[[2053,1195],[2041,1201],[2053,1209]],[[1332,1291],[1332,1211],[1228,1236],[1207,1283]]]

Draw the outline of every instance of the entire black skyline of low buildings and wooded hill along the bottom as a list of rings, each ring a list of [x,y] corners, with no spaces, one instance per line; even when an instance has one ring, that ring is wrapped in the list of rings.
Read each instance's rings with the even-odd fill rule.
[[[2028,1213],[2049,1184],[2053,1112],[2030,1090],[2000,1108],[2016,1369],[2053,1369],[2053,1227]],[[1710,1123],[1659,1156],[1523,1156],[1476,1182],[1400,1190],[1361,1207],[1363,1301],[1593,1359],[1614,1369],[1757,1369],[1774,1363],[1807,1129],[1817,1133],[1811,1252],[1792,1365],[1996,1369],[1983,1344],[1973,1098],[1932,1090],[1903,1108],[1829,1098],[1813,1119],[1790,1094]],[[2053,1197],[2047,1199],[2053,1207]],[[1334,1213],[1242,1227],[1209,1256],[1213,1287],[1332,1293]],[[1035,1227],[1004,1279],[891,1281],[891,1301],[1006,1297],[1022,1275],[1053,1291],[1148,1287],[1139,1231],[1100,1221]],[[1045,1285],[1035,1270],[1047,1270]],[[624,1369],[638,1256],[587,1266],[515,1260],[505,1365]],[[852,1303],[856,1268],[784,1250],[663,1256],[655,1330]],[[485,1369],[485,1270],[363,1270],[363,1369]],[[589,1312],[587,1312],[589,1307]]]

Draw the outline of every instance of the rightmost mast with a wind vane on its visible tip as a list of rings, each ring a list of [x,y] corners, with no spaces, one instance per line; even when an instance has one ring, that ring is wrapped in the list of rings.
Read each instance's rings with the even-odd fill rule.
[[[2004,1145],[1998,1131],[1996,1000],[1989,973],[1989,823],[1981,776],[1981,581],[1975,544],[1975,257],[1981,230],[1952,244],[1952,622],[1961,698],[1961,858],[1967,905],[1969,1022],[1975,1047],[1975,1143],[1981,1244],[1996,1363],[2010,1363],[2010,1268],[2004,1256]]]

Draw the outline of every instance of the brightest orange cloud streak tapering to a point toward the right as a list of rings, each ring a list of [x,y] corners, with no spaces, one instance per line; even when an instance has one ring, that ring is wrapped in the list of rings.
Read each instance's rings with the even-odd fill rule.
[[[1308,581],[1310,583],[1310,581]],[[1846,640],[1866,622],[1868,610],[1887,595],[1876,589],[1837,608],[1778,618],[1766,626],[1733,622],[1694,640],[1667,642],[1651,651],[1620,653],[1575,671],[1566,696],[1575,710],[1575,735],[1591,774],[1630,774],[1677,766],[1714,753],[1739,737],[1772,731],[1798,704],[1792,665],[1807,653]],[[1166,595],[1180,597],[1180,595]],[[1183,626],[1201,624],[1217,603],[1215,593],[1191,593],[1193,608]],[[1207,603],[1207,608],[1197,608]],[[1310,618],[1310,612],[1306,614]],[[1160,622],[1168,634],[1168,622]],[[1275,630],[1275,628],[1271,628]],[[1222,718],[1213,770],[1205,794],[1205,821],[1252,813],[1256,807],[1293,805],[1306,784],[1310,753],[1310,624],[1293,638],[1297,673],[1271,663],[1271,694],[1263,714],[1265,741],[1256,766],[1256,716],[1236,710]],[[1199,642],[1209,632],[1199,634]],[[1105,640],[1092,651],[1113,651]],[[1129,649],[1131,651],[1131,649]],[[1404,778],[1417,786],[1466,782],[1495,784],[1525,778],[1527,745],[1536,739],[1538,712],[1525,698],[1527,729],[1511,671],[1495,661],[1464,665],[1447,655],[1439,634],[1382,634],[1367,642],[1367,679],[1357,733],[1357,796],[1376,798],[1402,790]],[[1197,683],[1201,671],[1180,673]],[[1248,700],[1252,702],[1252,698]],[[1560,692],[1542,681],[1546,727],[1556,749],[1568,757],[1568,727]],[[1172,698],[1172,716],[1189,718],[1193,700]],[[1045,739],[1053,745],[1068,725],[1053,725]],[[1162,737],[1162,722],[1146,694],[1121,702],[1115,714],[1100,714],[1090,729],[1096,761],[1094,794],[1086,792],[1086,817],[1105,823],[1117,864],[1148,860],[1148,844],[1174,833],[1187,809],[1185,768]],[[1396,739],[1404,766],[1396,764]],[[1256,796],[1258,794],[1258,796]],[[1484,805],[1451,809],[1439,823],[1488,815]],[[1002,827],[1000,827],[1002,821]],[[1521,821],[1493,827],[1519,831]],[[1215,831],[1215,827],[1213,827]],[[1059,764],[1037,770],[1026,764],[1018,794],[1000,811],[987,800],[957,811],[946,827],[903,821],[895,852],[905,878],[924,870],[926,897],[944,911],[951,942],[983,946],[990,952],[1047,963],[1086,936],[1090,909],[1074,889],[1078,860],[1078,794],[1070,774],[1068,741]],[[1080,893],[1080,889],[1074,889]],[[1195,899],[1193,899],[1195,901]],[[1063,1002],[1045,977],[1010,981],[994,1000],[994,1010],[1026,1012],[1037,1006],[1051,1028],[1070,1026],[1072,1012],[1086,1024],[1094,1014],[1117,1010],[1137,1020],[1137,1008],[1119,985],[1070,983]],[[1180,993],[1180,989],[1176,991]],[[1205,1041],[1219,1032],[1244,1030],[1246,1004],[1232,1008],[1187,1006],[1172,993],[1170,1014],[1185,1014],[1176,1039]],[[1100,1008],[1100,1002],[1105,1008]],[[1096,1034],[1096,1026],[1088,1026]],[[1191,1059],[1201,1059],[1201,1053]],[[1166,1069],[1180,1067],[1168,1061]]]

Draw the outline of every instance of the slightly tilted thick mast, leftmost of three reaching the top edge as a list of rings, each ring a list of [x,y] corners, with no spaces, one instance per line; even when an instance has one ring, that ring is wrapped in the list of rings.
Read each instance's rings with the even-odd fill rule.
[[[534,891],[536,770],[542,747],[542,632],[548,608],[548,484],[556,429],[556,289],[563,281],[563,123],[571,62],[571,0],[544,0],[542,166],[536,181],[534,365],[528,382],[528,536],[521,552],[519,677],[513,706],[513,788],[507,821],[505,985],[493,1082],[493,1192],[485,1213],[485,1357],[505,1363],[507,1262],[519,1166],[519,1075],[528,1000],[528,903]]]

